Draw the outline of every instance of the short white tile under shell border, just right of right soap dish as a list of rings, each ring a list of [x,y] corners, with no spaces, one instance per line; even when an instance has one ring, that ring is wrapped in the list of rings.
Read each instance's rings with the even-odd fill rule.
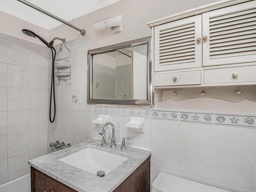
[[[179,135],[179,122],[152,119],[152,132],[168,135]]]

